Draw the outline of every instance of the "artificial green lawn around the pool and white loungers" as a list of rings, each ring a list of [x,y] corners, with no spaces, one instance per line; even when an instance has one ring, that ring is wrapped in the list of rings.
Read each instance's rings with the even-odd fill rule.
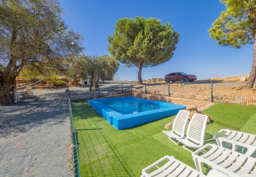
[[[78,130],[79,160],[84,176],[140,176],[141,170],[165,155],[174,155],[195,168],[191,153],[162,133],[175,116],[117,130],[87,101],[72,102],[74,129]],[[219,103],[203,113],[211,117],[205,144],[216,143],[212,135],[220,129],[256,134],[256,107]]]

